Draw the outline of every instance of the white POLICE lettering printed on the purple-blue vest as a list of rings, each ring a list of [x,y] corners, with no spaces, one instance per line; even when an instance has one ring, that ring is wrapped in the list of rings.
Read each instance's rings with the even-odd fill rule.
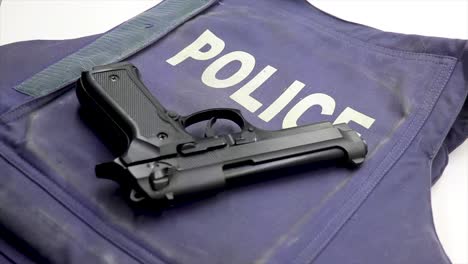
[[[208,49],[206,47],[208,46]],[[206,30],[194,42],[182,49],[179,53],[169,58],[166,62],[172,66],[185,61],[188,58],[194,60],[211,60],[220,55],[224,50],[225,43],[211,31]],[[205,48],[205,49],[203,49]],[[202,51],[202,49],[204,51]],[[216,74],[227,64],[238,61],[240,68],[224,79],[219,79]],[[212,88],[228,88],[232,87],[252,74],[255,67],[255,57],[244,51],[233,51],[222,55],[214,60],[203,71],[201,80],[204,84]],[[266,80],[268,80],[275,72],[276,68],[267,65],[259,73],[257,73],[250,81],[243,85],[239,90],[235,91],[230,98],[242,105],[248,111],[254,113],[263,104],[251,94],[257,90]],[[299,94],[305,87],[305,84],[295,80],[284,92],[258,117],[265,122],[272,120]],[[302,98],[296,105],[291,107],[283,120],[283,128],[297,126],[299,118],[311,107],[318,106],[321,108],[321,114],[331,116],[335,111],[335,99],[324,93],[314,93]],[[334,124],[338,123],[357,123],[364,128],[369,129],[375,119],[365,115],[351,107],[347,107],[341,114],[338,115]]]

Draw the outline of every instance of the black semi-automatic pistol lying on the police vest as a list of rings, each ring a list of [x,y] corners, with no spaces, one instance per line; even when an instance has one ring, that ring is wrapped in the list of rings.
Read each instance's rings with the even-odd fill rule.
[[[332,160],[358,165],[366,143],[346,124],[329,122],[266,131],[247,122],[236,109],[216,108],[180,116],[166,110],[130,63],[83,72],[76,93],[93,129],[105,131],[119,155],[96,166],[98,178],[131,190],[134,201],[172,202],[181,197],[222,190],[231,180]],[[213,124],[227,119],[239,132],[216,135]],[[206,122],[204,137],[186,131]]]

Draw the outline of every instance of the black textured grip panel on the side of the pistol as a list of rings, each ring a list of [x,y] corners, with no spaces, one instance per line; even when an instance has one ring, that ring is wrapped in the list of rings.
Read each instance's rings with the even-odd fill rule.
[[[154,138],[169,132],[168,123],[158,115],[158,109],[124,69],[93,73],[103,91],[136,123],[140,134]],[[149,93],[149,92],[148,92]]]

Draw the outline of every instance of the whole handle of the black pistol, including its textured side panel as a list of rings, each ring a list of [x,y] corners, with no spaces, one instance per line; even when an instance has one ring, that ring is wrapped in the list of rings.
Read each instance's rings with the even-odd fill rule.
[[[111,129],[105,134],[117,133],[112,137],[125,141],[118,144],[126,150],[128,163],[146,156],[154,158],[162,145],[190,137],[151,95],[137,68],[130,63],[84,72],[78,81],[77,95],[84,108],[91,108],[93,123],[101,126],[100,130]]]

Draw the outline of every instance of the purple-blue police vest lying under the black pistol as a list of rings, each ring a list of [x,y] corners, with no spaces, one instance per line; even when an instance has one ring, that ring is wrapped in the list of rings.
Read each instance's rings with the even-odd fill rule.
[[[382,32],[284,0],[166,0],[102,35],[0,47],[2,263],[450,263],[431,184],[468,135],[468,45]],[[186,115],[348,123],[357,170],[314,168],[164,211],[128,202],[75,81],[128,60]]]

